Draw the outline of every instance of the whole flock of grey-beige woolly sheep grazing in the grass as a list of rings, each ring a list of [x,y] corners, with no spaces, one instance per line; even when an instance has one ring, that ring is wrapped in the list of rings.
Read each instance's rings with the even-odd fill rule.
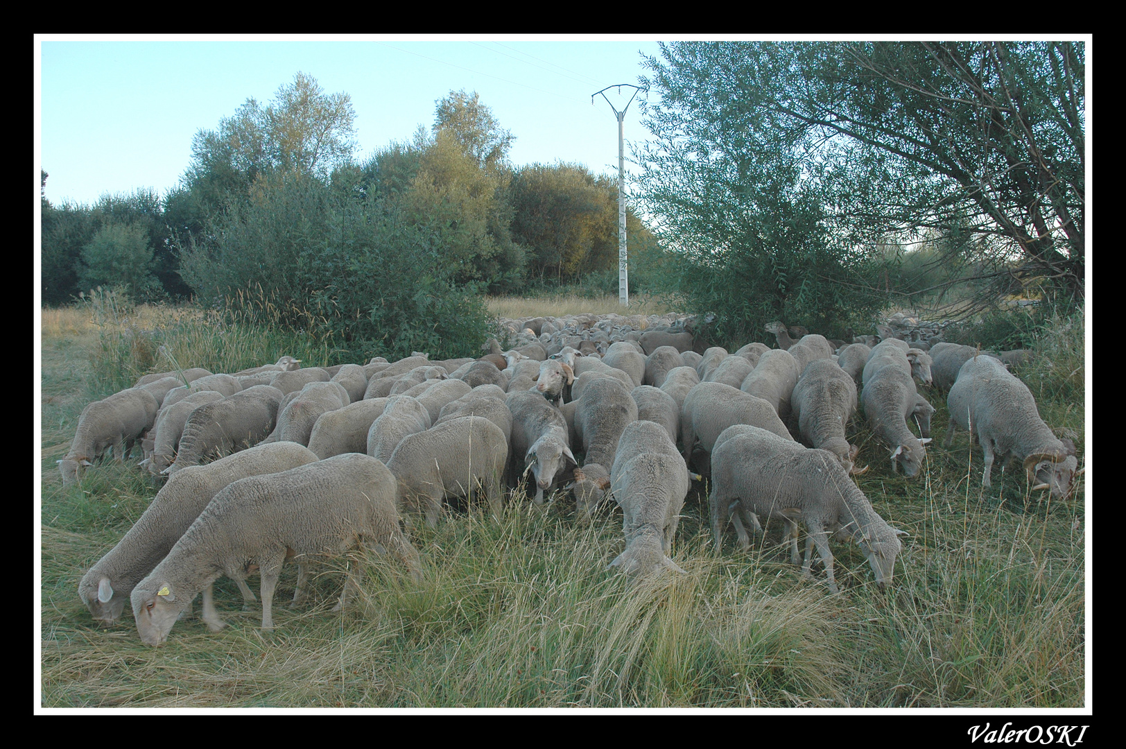
[[[245,579],[257,572],[269,630],[286,559],[298,565],[294,606],[307,595],[307,563],[349,549],[390,552],[419,579],[401,520],[417,515],[435,526],[446,499],[474,492],[499,515],[504,487],[525,479],[537,506],[555,485],[572,492],[583,521],[614,498],[626,547],[611,569],[634,579],[683,572],[671,543],[690,482],[704,475],[717,549],[729,525],[745,549],[760,518],[774,518],[805,576],[816,549],[832,592],[830,537],[854,540],[884,587],[904,532],[850,478],[867,469],[856,466],[846,426],[863,408],[893,470],[915,476],[935,412],[917,381],[949,389],[946,444],[956,427],[977,438],[984,485],[997,457],[1020,461],[1030,487],[1054,496],[1066,494],[1076,475],[1074,445],[1055,437],[1027,386],[992,355],[935,338],[909,341],[885,327],[878,342],[790,338],[795,331],[780,322],[767,326],[780,348],[698,353],[694,322],[535,318],[506,321],[517,345],[502,351],[491,340],[477,359],[417,354],[302,368],[284,356],[233,374],[146,375],[90,403],[59,462],[63,483],[72,483],[98,457],[111,451],[123,460],[140,440],[141,465],[167,476],[79,595],[102,623],[129,600],[142,641],[155,645],[199,594],[202,619],[222,628],[212,583],[232,578],[249,604]],[[360,571],[349,569],[338,609]]]

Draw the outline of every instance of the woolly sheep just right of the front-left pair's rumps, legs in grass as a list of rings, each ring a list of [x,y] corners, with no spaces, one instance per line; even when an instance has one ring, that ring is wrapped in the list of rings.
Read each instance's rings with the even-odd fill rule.
[[[483,482],[495,517],[503,510],[501,481],[508,462],[508,440],[489,419],[462,417],[426,431],[408,435],[387,460],[399,482],[403,506],[426,515],[427,525],[437,527],[441,500],[466,496]]]

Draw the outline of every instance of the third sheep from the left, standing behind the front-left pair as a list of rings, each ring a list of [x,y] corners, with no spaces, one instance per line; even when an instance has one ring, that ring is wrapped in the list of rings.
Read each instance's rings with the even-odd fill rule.
[[[171,475],[208,455],[222,457],[257,445],[274,430],[280,402],[277,387],[256,385],[194,409],[184,422],[176,461],[161,473]]]

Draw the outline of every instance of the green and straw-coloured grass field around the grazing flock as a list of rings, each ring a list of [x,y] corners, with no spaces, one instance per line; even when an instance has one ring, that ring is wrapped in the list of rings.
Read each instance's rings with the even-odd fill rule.
[[[994,471],[983,491],[980,448],[965,434],[941,447],[947,414],[938,393],[927,394],[938,408],[935,442],[913,480],[892,473],[863,417],[850,428],[860,464],[872,465],[860,488],[910,533],[884,594],[851,544],[833,544],[840,595],[829,595],[817,565],[804,580],[775,524],[748,553],[733,534],[717,550],[698,484],[673,546],[688,573],[631,588],[605,571],[624,546],[616,506],[583,525],[570,498],[558,494],[537,512],[517,491],[499,521],[471,506],[437,529],[412,523],[426,568],[420,583],[394,561],[365,559],[360,605],[333,614],[341,560],[319,570],[309,606],[292,610],[280,606],[296,578],[287,567],[276,630],[266,633],[260,609],[240,612],[224,578],[215,599],[230,627],[213,634],[191,616],[164,645],[146,647],[128,612],[98,627],[77,590],[158,487],[135,465],[107,461],[63,488],[55,461],[82,408],[133,376],[131,356],[151,356],[153,371],[172,368],[159,366],[166,355],[144,342],[145,330],[162,331],[155,339],[184,366],[216,372],[294,351],[253,331],[227,330],[216,342],[218,333],[202,330],[189,311],[100,314],[43,312],[42,707],[1046,710],[1090,702],[1085,482],[1056,501],[1027,493],[1020,471]],[[1021,373],[1045,420],[1074,435],[1081,463],[1082,341],[1081,320],[1061,320],[1040,341],[1039,364]],[[318,364],[315,348],[296,355]]]

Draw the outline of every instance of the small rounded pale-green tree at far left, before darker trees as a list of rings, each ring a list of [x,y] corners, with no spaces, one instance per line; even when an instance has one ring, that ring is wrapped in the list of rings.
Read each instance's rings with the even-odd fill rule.
[[[160,292],[152,268],[152,247],[144,226],[107,222],[82,248],[78,280],[84,289],[107,286],[146,302]]]

